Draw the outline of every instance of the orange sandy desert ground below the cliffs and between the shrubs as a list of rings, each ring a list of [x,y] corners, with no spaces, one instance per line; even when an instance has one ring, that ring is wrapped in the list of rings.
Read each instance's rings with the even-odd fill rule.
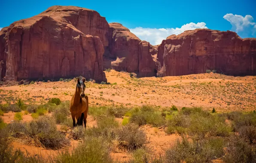
[[[125,105],[141,106],[145,104],[155,106],[182,107],[202,106],[217,112],[232,110],[251,111],[256,109],[256,76],[234,77],[221,74],[206,73],[184,76],[168,76],[163,78],[131,78],[127,72],[106,72],[110,85],[86,82],[85,94],[89,97],[89,105]],[[30,85],[15,85],[0,88],[0,102],[12,102],[22,98],[25,103],[46,103],[49,98],[58,97],[62,101],[70,100],[75,91],[76,80],[71,82],[35,82]],[[3,120],[10,123],[14,118],[13,112],[5,113]],[[30,114],[23,115],[22,121],[31,121]],[[122,118],[116,118],[119,124]],[[96,120],[88,116],[88,127],[96,126]],[[179,135],[168,135],[164,129],[141,127],[145,132],[147,147],[155,154],[161,154],[170,147]],[[48,150],[13,141],[15,148],[30,154],[43,154],[49,157],[63,150],[71,150],[78,141],[71,141],[70,147],[61,150]],[[119,161],[127,161],[131,154],[118,151],[111,156]]]

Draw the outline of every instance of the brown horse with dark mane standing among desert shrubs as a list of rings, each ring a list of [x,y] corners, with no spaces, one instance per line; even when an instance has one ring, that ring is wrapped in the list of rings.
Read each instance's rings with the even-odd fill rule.
[[[78,78],[76,92],[70,100],[70,112],[73,119],[73,127],[76,127],[77,125],[82,126],[82,122],[84,122],[86,127],[88,108],[88,97],[85,96],[85,78],[82,78],[82,81]]]

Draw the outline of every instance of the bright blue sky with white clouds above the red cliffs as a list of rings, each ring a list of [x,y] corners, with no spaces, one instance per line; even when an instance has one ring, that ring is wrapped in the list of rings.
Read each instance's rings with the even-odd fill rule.
[[[256,37],[256,0],[3,0],[0,5],[0,27],[63,5],[94,9],[109,23],[119,22],[152,44],[195,28],[233,30],[242,38]]]

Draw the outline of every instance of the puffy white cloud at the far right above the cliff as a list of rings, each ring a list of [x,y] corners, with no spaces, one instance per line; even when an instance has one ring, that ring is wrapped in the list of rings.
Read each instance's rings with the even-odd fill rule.
[[[241,15],[226,14],[223,18],[232,24],[231,30],[237,33],[246,35],[247,33],[256,32],[256,23],[251,15],[245,15],[245,17],[243,17]]]

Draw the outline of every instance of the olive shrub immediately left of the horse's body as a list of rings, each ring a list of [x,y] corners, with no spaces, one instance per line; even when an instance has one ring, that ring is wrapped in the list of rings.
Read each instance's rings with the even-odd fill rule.
[[[62,124],[70,115],[69,104],[67,102],[61,103],[58,107],[53,111],[53,116],[56,119],[57,124]]]

